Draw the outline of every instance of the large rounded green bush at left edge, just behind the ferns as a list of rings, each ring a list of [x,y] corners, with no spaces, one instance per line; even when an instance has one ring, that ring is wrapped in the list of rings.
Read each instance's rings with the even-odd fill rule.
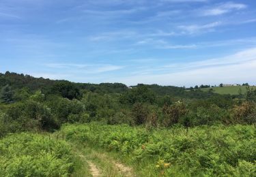
[[[1,108],[5,133],[57,129],[51,109],[33,100],[5,105]]]

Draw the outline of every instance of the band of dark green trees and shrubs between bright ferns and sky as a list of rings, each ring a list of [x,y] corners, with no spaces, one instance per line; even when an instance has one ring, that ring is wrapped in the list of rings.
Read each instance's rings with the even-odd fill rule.
[[[6,72],[0,74],[1,136],[8,132],[59,129],[63,123],[171,127],[254,124],[256,91],[218,95],[200,89],[119,83],[82,84]]]

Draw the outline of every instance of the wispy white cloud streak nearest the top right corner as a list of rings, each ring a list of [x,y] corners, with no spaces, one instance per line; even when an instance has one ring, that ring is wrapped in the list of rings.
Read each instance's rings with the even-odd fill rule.
[[[204,10],[199,10],[198,14],[200,16],[218,16],[222,14],[227,14],[234,10],[244,10],[246,7],[247,5],[243,3],[227,2],[216,5],[216,7],[208,7]]]

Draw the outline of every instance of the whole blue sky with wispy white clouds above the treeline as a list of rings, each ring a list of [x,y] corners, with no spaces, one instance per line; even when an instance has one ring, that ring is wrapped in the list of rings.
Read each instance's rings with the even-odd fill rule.
[[[5,71],[127,85],[256,84],[256,1],[1,0]]]

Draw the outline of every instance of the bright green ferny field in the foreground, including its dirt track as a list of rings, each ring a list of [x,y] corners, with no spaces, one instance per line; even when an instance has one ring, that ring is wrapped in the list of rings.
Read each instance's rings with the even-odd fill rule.
[[[254,125],[65,125],[0,140],[0,176],[256,176]],[[65,141],[66,140],[66,141]]]

